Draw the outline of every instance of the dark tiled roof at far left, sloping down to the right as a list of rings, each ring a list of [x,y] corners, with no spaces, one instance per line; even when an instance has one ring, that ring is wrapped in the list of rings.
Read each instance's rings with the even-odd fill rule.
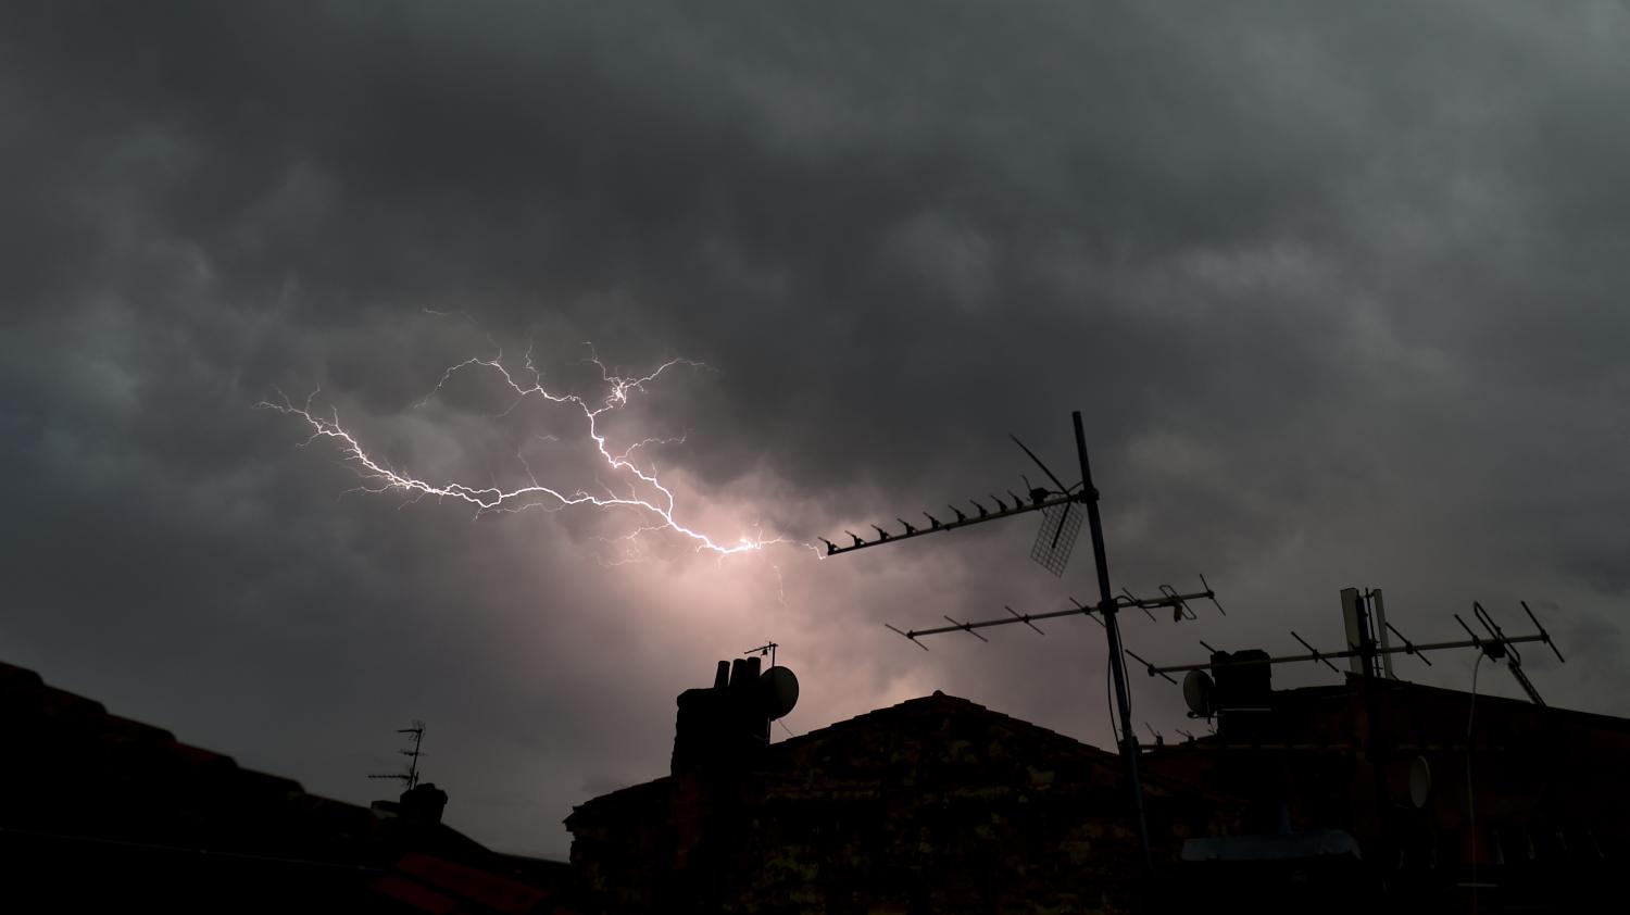
[[[556,912],[569,869],[238,767],[0,664],[3,912]]]

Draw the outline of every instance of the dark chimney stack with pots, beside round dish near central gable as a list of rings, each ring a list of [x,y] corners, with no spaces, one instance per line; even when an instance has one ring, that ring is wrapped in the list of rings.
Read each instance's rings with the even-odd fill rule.
[[[758,657],[720,661],[709,688],[685,690],[673,731],[675,775],[740,771],[769,744],[769,698]]]

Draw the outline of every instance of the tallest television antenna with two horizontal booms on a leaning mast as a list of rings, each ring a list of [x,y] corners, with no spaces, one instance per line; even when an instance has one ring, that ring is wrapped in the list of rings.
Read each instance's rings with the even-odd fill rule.
[[[975,507],[978,515],[970,515],[965,511],[958,509],[957,506],[950,506],[950,511],[955,514],[955,520],[942,522],[932,514],[923,512],[923,517],[929,520],[929,525],[926,528],[908,524],[903,519],[896,519],[903,525],[901,533],[890,533],[882,527],[872,525],[872,528],[877,532],[877,538],[874,540],[866,540],[852,532],[846,532],[852,538],[852,543],[849,543],[848,546],[838,546],[836,543],[826,538],[822,538],[822,543],[826,545],[828,556],[836,556],[841,553],[866,550],[867,546],[877,546],[880,543],[896,543],[901,540],[913,540],[918,537],[926,537],[929,533],[957,530],[962,527],[973,527],[976,524],[1015,517],[1020,514],[1042,512],[1043,514],[1042,530],[1037,533],[1037,540],[1030,548],[1030,558],[1035,559],[1046,571],[1053,572],[1055,576],[1063,576],[1064,564],[1069,561],[1069,553],[1076,543],[1076,535],[1081,532],[1081,515],[1086,514],[1087,530],[1092,537],[1092,559],[1094,564],[1097,566],[1097,579],[1099,579],[1097,605],[1087,607],[1071,599],[1071,603],[1074,605],[1073,608],[1053,610],[1045,613],[1019,613],[1014,608],[1007,607],[1006,608],[1007,617],[999,617],[994,620],[967,621],[967,623],[945,617],[945,621],[950,623],[949,626],[934,626],[927,630],[898,630],[893,625],[888,623],[883,625],[888,626],[888,630],[911,639],[911,643],[916,644],[918,648],[927,651],[927,646],[918,639],[941,633],[960,631],[980,641],[989,641],[976,630],[1024,623],[1025,626],[1035,630],[1038,634],[1046,634],[1040,630],[1040,626],[1035,625],[1038,620],[1051,620],[1056,617],[1077,617],[1077,615],[1090,617],[1092,620],[1102,623],[1105,631],[1105,639],[1108,641],[1110,679],[1115,685],[1115,701],[1118,706],[1118,716],[1121,724],[1118,736],[1120,752],[1121,757],[1126,760],[1126,775],[1131,785],[1133,811],[1138,820],[1138,842],[1143,848],[1144,869],[1149,874],[1152,874],[1154,860],[1149,855],[1149,827],[1143,814],[1143,785],[1138,778],[1138,732],[1131,723],[1131,700],[1128,696],[1126,667],[1123,656],[1131,654],[1139,662],[1143,662],[1143,659],[1126,651],[1126,646],[1121,641],[1120,623],[1117,617],[1121,610],[1133,607],[1143,610],[1144,613],[1149,613],[1156,607],[1165,607],[1172,610],[1175,618],[1192,620],[1195,618],[1195,613],[1188,607],[1188,600],[1206,599],[1216,602],[1216,592],[1213,592],[1211,586],[1205,584],[1205,577],[1201,577],[1200,581],[1201,586],[1205,586],[1205,590],[1195,594],[1178,594],[1170,586],[1161,586],[1161,597],[1139,599],[1131,595],[1130,592],[1115,594],[1115,590],[1110,587],[1108,558],[1104,550],[1104,522],[1099,517],[1099,491],[1097,488],[1092,486],[1092,465],[1087,458],[1087,437],[1086,432],[1082,431],[1081,411],[1077,409],[1071,413],[1071,419],[1074,421],[1076,427],[1076,458],[1081,462],[1081,481],[1076,483],[1074,486],[1064,486],[1064,483],[1058,478],[1058,475],[1055,475],[1042,462],[1042,458],[1035,455],[1035,452],[1025,447],[1025,444],[1020,442],[1015,435],[1009,435],[1012,437],[1014,444],[1017,444],[1024,450],[1024,453],[1029,455],[1030,460],[1035,462],[1038,468],[1042,468],[1042,473],[1045,473],[1046,478],[1053,483],[1051,489],[1046,486],[1030,486],[1030,481],[1020,476],[1020,480],[1025,480],[1027,494],[1019,496],[1009,489],[1007,496],[1012,499],[1012,504],[1007,504],[999,496],[991,494],[989,499],[996,504],[996,511],[988,509],[978,499],[968,499],[968,502]],[[1218,610],[1222,610],[1221,603],[1218,603]],[[1149,615],[1152,618],[1152,613]]]

